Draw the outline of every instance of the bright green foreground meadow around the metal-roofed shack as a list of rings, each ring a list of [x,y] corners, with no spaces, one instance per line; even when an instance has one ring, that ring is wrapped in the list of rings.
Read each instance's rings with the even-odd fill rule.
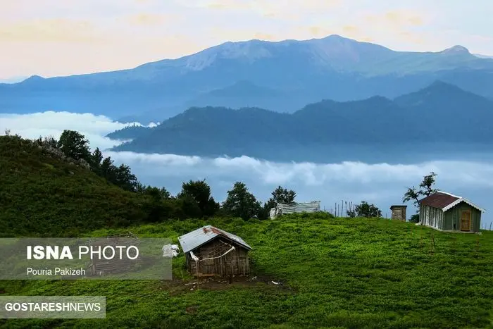
[[[6,294],[104,295],[106,320],[8,320],[5,328],[492,328],[493,234],[412,223],[285,216],[275,221],[168,221],[131,228],[177,237],[217,225],[246,240],[259,277],[280,281],[190,290],[173,281],[5,281]],[[125,229],[126,230],[126,229]],[[125,231],[122,230],[122,231]],[[97,230],[88,235],[109,235]],[[435,247],[433,247],[433,240]]]

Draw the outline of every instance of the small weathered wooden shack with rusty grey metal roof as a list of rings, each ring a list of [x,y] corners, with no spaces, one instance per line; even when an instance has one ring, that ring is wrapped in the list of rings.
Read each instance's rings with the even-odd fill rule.
[[[249,275],[251,247],[241,237],[206,225],[178,238],[192,275],[233,277]]]

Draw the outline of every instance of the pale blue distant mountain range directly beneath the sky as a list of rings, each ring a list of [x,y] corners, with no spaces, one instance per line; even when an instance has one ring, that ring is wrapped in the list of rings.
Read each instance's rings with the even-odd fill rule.
[[[105,73],[0,84],[0,111],[70,111],[147,123],[191,106],[292,113],[320,99],[394,99],[436,80],[493,99],[493,59],[463,46],[393,51],[339,35],[226,42],[177,59]]]

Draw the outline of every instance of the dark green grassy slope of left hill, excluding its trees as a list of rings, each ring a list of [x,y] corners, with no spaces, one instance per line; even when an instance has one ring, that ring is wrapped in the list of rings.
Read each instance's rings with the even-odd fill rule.
[[[59,159],[37,144],[0,136],[0,237],[73,237],[141,223],[144,198]]]

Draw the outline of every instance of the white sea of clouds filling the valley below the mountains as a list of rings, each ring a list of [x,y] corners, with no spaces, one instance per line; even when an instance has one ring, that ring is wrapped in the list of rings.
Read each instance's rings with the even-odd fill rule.
[[[401,204],[406,187],[418,186],[423,175],[437,173],[437,187],[462,195],[485,209],[493,206],[493,163],[457,159],[427,161],[413,164],[341,163],[275,163],[253,159],[221,157],[206,159],[199,156],[175,154],[137,154],[107,149],[119,144],[104,137],[108,132],[133,123],[118,123],[105,116],[90,113],[44,112],[32,114],[0,113],[0,134],[11,130],[27,138],[54,136],[58,139],[64,129],[77,130],[90,141],[91,149],[99,147],[116,164],[126,163],[146,185],[166,187],[173,194],[180,191],[182,182],[206,179],[213,196],[223,201],[232,185],[245,182],[258,199],[265,201],[275,187],[282,185],[297,192],[297,201],[322,201],[332,211],[335,203],[362,200],[376,204],[389,216],[389,206]],[[154,125],[154,124],[152,124]],[[408,204],[408,217],[415,209]],[[484,225],[492,217],[483,215]]]

